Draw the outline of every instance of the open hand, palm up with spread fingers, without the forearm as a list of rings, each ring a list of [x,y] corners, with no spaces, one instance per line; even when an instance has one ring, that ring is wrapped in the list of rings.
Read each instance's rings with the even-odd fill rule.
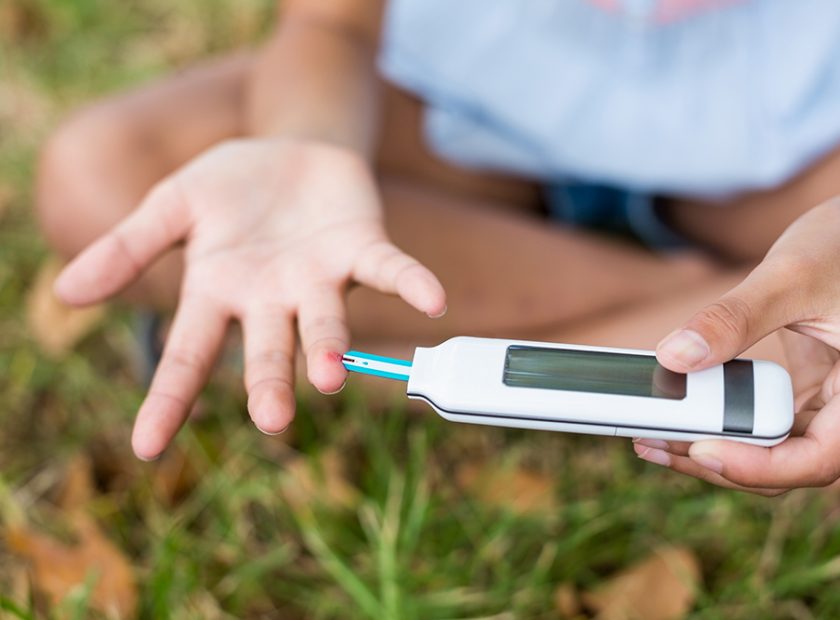
[[[280,139],[221,145],[164,180],[65,269],[56,291],[98,302],[179,243],[178,311],[132,439],[141,458],[159,455],[186,419],[231,319],[243,327],[248,411],[276,433],[294,416],[296,320],[309,380],[334,392],[346,377],[349,284],[396,293],[430,316],[445,310],[437,278],[388,240],[365,162]]]

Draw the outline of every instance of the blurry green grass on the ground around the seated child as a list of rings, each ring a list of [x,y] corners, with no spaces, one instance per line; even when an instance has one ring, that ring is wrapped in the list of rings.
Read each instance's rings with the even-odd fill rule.
[[[87,455],[89,509],[136,568],[142,618],[550,618],[560,584],[593,588],[663,544],[701,562],[693,618],[840,617],[836,491],[722,491],[641,463],[624,441],[371,411],[352,386],[332,400],[302,397],[289,436],[269,438],[247,422],[238,383],[221,376],[173,455],[132,460],[142,390],[130,317],[113,311],[60,361],[26,330],[25,298],[47,255],[31,214],[37,148],[90,97],[254,40],[269,4],[0,5],[0,99],[22,102],[0,100],[0,190],[11,196],[0,214],[0,486],[26,518],[60,521],[51,490]],[[332,488],[325,457],[336,454],[346,483]],[[474,462],[547,478],[554,508],[482,501],[456,482]],[[296,497],[301,476],[315,491]],[[50,610],[21,597],[20,567],[0,546],[6,616],[93,615],[95,575]]]

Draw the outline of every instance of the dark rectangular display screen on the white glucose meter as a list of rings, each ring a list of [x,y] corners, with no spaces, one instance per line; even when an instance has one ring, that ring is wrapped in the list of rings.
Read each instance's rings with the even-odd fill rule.
[[[686,376],[661,366],[652,355],[575,351],[512,345],[503,381],[511,387],[685,398]]]

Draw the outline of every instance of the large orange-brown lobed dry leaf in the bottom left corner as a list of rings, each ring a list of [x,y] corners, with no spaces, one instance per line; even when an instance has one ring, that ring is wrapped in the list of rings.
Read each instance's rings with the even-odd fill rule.
[[[58,506],[66,511],[75,544],[62,542],[31,526],[18,524],[6,530],[6,544],[23,557],[32,584],[55,605],[93,576],[90,604],[109,617],[132,618],[137,608],[137,584],[123,552],[85,512],[94,495],[91,464],[74,459],[67,468]]]

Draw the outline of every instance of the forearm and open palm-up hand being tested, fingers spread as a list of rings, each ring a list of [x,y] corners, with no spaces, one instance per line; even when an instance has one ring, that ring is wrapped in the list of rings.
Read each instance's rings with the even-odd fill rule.
[[[430,316],[445,309],[435,276],[387,238],[366,159],[375,46],[362,33],[377,31],[379,4],[291,4],[254,78],[252,128],[270,135],[214,147],[164,179],[56,282],[68,303],[94,303],[184,245],[178,310],[134,428],[138,456],[159,455],[187,418],[231,320],[243,327],[248,411],[279,432],[294,416],[297,335],[309,380],[341,388],[352,282]]]

